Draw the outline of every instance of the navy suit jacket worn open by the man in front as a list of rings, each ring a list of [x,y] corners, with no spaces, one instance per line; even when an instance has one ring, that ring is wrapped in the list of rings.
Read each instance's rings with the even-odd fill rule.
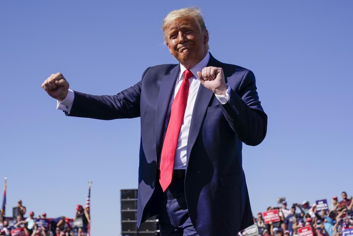
[[[213,92],[202,84],[199,87],[187,140],[186,202],[199,235],[237,235],[253,224],[242,167],[242,143],[255,146],[262,142],[267,115],[250,70],[221,63],[212,55],[208,66],[223,68],[226,84],[231,88],[230,100],[222,105]],[[157,161],[179,72],[179,64],[149,67],[140,82],[113,96],[74,92],[69,116],[141,118],[138,226],[158,213],[154,194]]]

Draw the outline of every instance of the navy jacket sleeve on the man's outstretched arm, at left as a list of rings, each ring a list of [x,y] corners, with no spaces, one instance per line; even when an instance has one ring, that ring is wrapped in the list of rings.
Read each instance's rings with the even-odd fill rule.
[[[148,69],[144,71],[142,79]],[[71,111],[65,114],[101,120],[139,117],[142,79],[116,95],[97,96],[74,91]]]

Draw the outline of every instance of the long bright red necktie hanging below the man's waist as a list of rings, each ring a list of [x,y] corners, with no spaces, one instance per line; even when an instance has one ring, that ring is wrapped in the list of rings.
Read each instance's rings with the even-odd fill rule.
[[[189,79],[191,76],[192,73],[190,70],[184,71],[183,82],[181,82],[177,96],[175,96],[172,104],[172,110],[170,111],[169,123],[162,147],[159,175],[159,182],[163,192],[166,191],[170,182],[172,182],[175,150],[177,149],[181,124],[183,124],[184,120],[187,95],[189,94]]]

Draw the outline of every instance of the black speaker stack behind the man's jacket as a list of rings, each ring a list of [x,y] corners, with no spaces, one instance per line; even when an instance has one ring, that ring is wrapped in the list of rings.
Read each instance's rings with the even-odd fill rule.
[[[122,236],[160,236],[157,216],[137,228],[137,189],[121,189],[120,200]]]

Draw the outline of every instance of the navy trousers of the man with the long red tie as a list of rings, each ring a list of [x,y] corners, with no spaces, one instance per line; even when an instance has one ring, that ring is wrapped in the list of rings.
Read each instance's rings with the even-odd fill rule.
[[[187,211],[184,178],[173,178],[164,193],[159,182],[157,185],[158,223],[161,236],[199,236]]]

